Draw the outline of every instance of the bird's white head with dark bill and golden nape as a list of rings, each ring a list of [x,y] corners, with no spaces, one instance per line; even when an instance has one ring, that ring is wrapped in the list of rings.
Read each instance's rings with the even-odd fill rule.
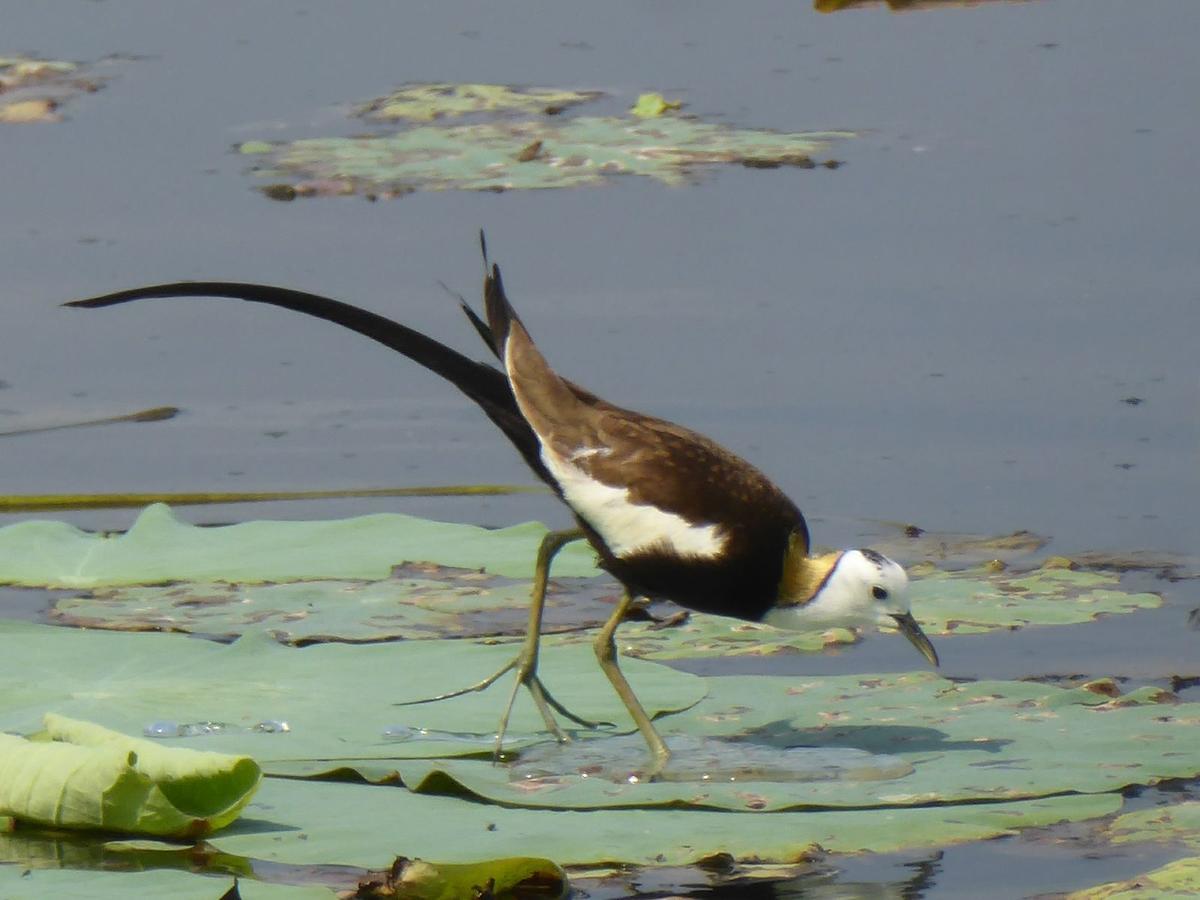
[[[908,576],[904,566],[874,550],[847,550],[806,560],[812,588],[806,594],[781,594],[763,618],[768,625],[811,630],[835,625],[888,625],[899,629],[920,655],[937,661],[937,650],[908,607]],[[817,580],[817,576],[820,580]]]

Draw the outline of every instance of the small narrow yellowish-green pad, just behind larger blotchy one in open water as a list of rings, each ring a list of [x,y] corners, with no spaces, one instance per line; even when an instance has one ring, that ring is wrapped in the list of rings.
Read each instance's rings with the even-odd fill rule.
[[[553,115],[601,96],[600,91],[512,88],[504,84],[407,84],[386,97],[359,107],[355,115],[377,121],[403,119],[416,122],[457,119],[473,113]]]

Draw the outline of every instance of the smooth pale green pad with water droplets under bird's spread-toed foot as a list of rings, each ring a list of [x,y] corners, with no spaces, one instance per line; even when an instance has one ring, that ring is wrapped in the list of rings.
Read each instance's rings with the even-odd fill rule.
[[[268,772],[275,761],[490,758],[511,676],[482,694],[395,704],[476,682],[515,652],[468,641],[294,648],[262,632],[217,644],[0,622],[0,731],[36,732],[42,714],[54,712],[125,734],[186,736],[163,744],[247,755]],[[541,666],[546,685],[576,713],[634,730],[590,648],[547,648]],[[658,664],[628,660],[623,668],[652,715],[695,706],[707,690],[704,679]],[[505,746],[547,739],[522,692]]]

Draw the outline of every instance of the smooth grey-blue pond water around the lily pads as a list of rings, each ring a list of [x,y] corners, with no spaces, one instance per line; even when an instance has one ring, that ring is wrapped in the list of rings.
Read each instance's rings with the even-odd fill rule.
[[[1192,554],[1198,38],[1189,0],[905,14],[767,0],[10,0],[0,55],[127,58],[62,124],[0,126],[0,430],[184,413],[0,438],[0,494],[528,484],[454,389],[322,323],[229,302],[58,308],[156,281],[260,281],[475,353],[437,281],[474,296],[484,227],[559,371],[743,454],[800,503],[822,545],[864,540],[882,520],[1030,529],[1063,553]],[[830,149],[846,163],[836,170],[379,203],[268,200],[232,151],[353,133],[350,103],[427,80],[600,89],[630,103],[659,90],[739,126],[859,136]],[[379,510],[568,521],[540,494],[185,515]],[[56,515],[122,528],[134,514]],[[1168,600],[1154,613],[942,641],[946,673],[1200,674],[1200,632],[1183,625],[1198,582],[1153,589]],[[911,667],[893,643],[808,671]],[[961,890],[972,852],[948,853],[919,894]],[[1024,868],[1012,853],[992,868]],[[1021,890],[1128,877],[1144,863],[1060,878],[1043,857],[1044,880]]]

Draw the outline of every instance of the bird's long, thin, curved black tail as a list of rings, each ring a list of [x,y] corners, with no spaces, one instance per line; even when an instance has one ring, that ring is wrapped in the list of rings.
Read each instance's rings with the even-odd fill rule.
[[[499,276],[498,269],[496,276],[497,278]],[[508,377],[503,372],[485,362],[476,362],[420,331],[414,331],[407,325],[401,325],[398,322],[392,322],[373,312],[302,290],[227,281],[182,281],[173,284],[151,284],[94,296],[88,300],[74,300],[64,304],[64,306],[98,308],[127,304],[132,300],[192,296],[220,296],[281,306],[284,310],[294,310],[306,316],[336,323],[404,354],[431,372],[445,378],[478,403],[487,418],[496,422],[512,442],[529,468],[542,481],[556,491],[558,490],[554,479],[542,466],[538,437],[522,418],[516,398],[512,396],[512,389],[509,386]],[[463,306],[469,311],[466,304]],[[474,312],[470,312],[470,318],[473,324],[479,322]]]

